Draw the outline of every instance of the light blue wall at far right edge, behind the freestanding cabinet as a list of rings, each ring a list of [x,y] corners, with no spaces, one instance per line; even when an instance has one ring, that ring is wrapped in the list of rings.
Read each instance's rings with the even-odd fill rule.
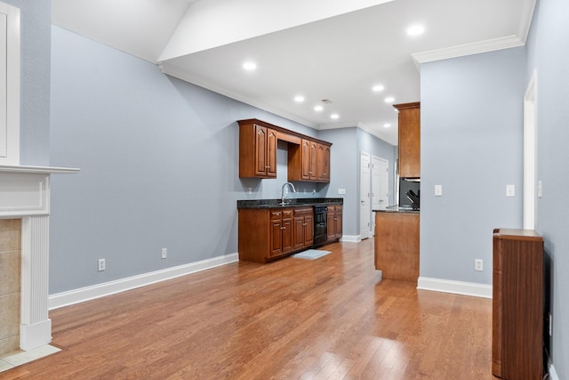
[[[569,378],[569,228],[565,198],[569,189],[569,3],[538,1],[527,42],[529,82],[537,70],[537,176],[543,198],[537,203],[537,230],[551,261],[553,336],[548,344],[559,379]]]

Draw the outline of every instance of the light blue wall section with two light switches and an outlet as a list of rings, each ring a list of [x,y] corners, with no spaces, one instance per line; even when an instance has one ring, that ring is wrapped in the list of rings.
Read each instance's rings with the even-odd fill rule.
[[[525,48],[421,65],[421,277],[492,284],[493,229],[522,225],[524,78]]]

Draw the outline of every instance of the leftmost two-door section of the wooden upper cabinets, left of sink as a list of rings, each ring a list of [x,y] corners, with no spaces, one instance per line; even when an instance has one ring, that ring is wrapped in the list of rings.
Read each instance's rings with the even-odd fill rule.
[[[239,125],[239,177],[276,178],[276,131],[264,125]]]

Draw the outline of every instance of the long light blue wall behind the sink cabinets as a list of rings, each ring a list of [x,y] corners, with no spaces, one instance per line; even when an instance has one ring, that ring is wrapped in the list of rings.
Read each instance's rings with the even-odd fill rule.
[[[280,142],[276,180],[238,178],[236,120],[253,117],[333,142],[332,182],[296,182],[292,197],[347,189],[356,235],[356,128],[317,133],[52,27],[51,164],[81,172],[52,178],[50,293],[236,253],[236,200],[280,198],[287,176]]]

